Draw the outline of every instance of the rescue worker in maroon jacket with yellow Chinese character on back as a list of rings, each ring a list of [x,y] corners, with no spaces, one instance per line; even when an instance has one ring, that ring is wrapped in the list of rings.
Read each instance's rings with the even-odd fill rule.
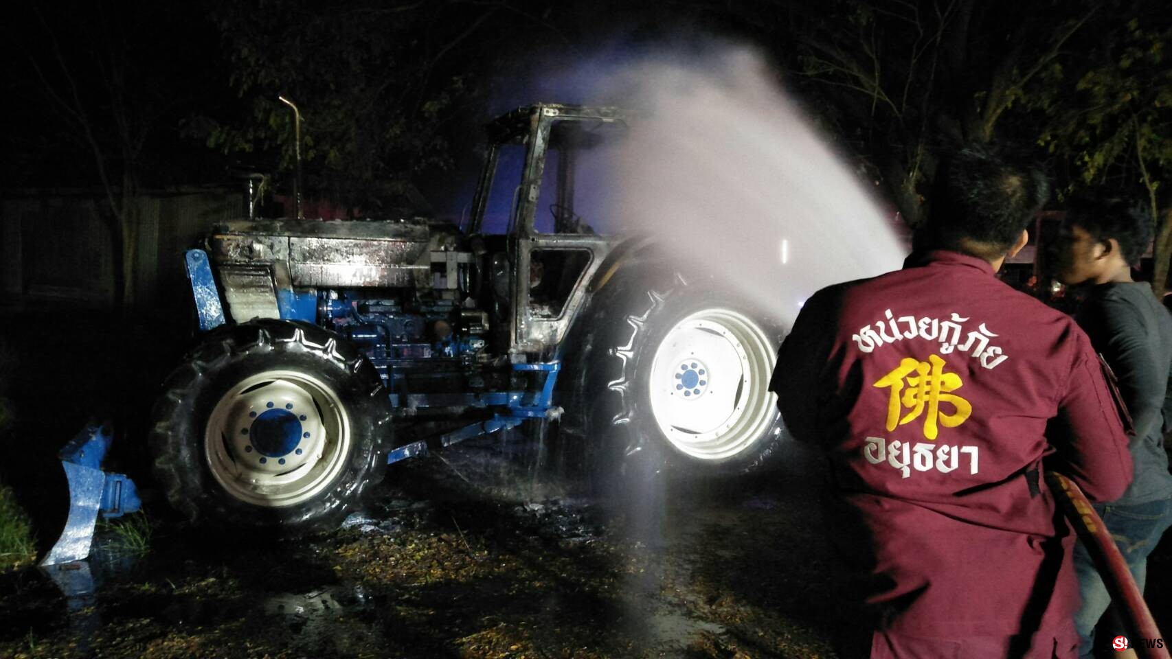
[[[829,457],[852,514],[836,526],[864,533],[872,658],[1077,655],[1075,538],[1043,459],[1095,501],[1131,459],[1086,335],[994,276],[1047,197],[1036,170],[960,152],[904,269],[818,291],[782,344],[785,424]]]

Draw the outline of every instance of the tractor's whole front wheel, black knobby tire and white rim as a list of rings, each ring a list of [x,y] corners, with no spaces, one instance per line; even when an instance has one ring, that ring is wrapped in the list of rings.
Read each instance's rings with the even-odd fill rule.
[[[336,528],[382,480],[390,401],[338,335],[257,320],[212,334],[171,373],[149,444],[190,521],[295,536]]]

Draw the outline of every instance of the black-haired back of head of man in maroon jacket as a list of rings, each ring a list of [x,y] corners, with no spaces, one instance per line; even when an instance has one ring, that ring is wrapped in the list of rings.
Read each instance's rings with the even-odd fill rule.
[[[1049,197],[1041,169],[1011,163],[988,146],[962,149],[936,169],[918,246],[1004,256]]]

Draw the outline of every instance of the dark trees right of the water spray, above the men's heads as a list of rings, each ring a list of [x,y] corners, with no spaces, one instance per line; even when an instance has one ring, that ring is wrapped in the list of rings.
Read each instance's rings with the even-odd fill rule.
[[[1036,159],[1048,150],[1059,190],[1112,185],[1151,207],[1156,282],[1166,281],[1165,2],[776,0],[706,11],[774,44],[790,84],[913,227],[941,153],[973,143]]]

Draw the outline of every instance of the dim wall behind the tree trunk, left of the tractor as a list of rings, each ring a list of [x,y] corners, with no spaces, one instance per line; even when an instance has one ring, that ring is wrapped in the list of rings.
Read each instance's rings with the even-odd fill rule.
[[[6,192],[0,200],[0,307],[108,308],[114,302],[114,233],[104,201],[70,191]],[[183,252],[213,222],[244,214],[237,190],[144,192],[135,304],[185,302]]]

